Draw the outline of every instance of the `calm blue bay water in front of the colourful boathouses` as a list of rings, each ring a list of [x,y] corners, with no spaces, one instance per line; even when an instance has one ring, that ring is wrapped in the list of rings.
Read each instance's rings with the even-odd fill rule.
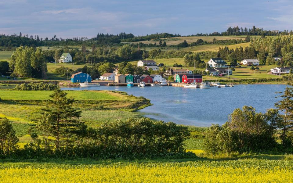
[[[273,108],[280,98],[276,91],[284,91],[286,85],[246,84],[226,88],[183,88],[161,87],[85,87],[63,88],[64,90],[118,90],[135,96],[144,96],[151,100],[149,106],[140,113],[145,117],[177,124],[210,126],[223,124],[235,108],[244,105],[255,107],[257,112],[266,112]]]

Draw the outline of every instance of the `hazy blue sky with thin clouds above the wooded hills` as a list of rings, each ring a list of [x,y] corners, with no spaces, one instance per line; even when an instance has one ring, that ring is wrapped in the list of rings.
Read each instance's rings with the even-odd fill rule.
[[[229,26],[293,29],[292,0],[0,0],[0,34],[58,38],[98,33],[189,35]]]

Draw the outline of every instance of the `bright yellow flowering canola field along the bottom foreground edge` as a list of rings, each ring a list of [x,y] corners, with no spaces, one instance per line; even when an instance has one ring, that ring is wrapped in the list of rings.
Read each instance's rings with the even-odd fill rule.
[[[0,182],[293,182],[293,170],[193,166],[6,168]]]

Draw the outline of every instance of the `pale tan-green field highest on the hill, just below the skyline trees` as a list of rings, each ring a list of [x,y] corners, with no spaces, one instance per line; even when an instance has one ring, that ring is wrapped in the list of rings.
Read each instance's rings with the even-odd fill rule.
[[[175,37],[175,38],[162,38],[161,40],[165,41],[167,45],[177,45],[179,43],[182,43],[184,40],[187,41],[187,43],[192,43],[197,41],[198,39],[202,39],[204,41],[210,42],[213,41],[213,39],[216,38],[216,40],[227,40],[227,39],[245,39],[246,36],[190,36],[190,37]],[[256,38],[260,38],[260,36],[256,36]],[[134,43],[156,43],[159,44],[159,41],[155,41],[154,39],[151,39],[149,41],[137,41]]]

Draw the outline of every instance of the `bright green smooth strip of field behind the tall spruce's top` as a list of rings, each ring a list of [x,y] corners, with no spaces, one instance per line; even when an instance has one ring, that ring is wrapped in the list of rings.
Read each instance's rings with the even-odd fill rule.
[[[68,97],[76,100],[119,100],[118,97],[104,91],[66,91]],[[46,100],[52,91],[14,91],[2,90],[1,99],[4,100]]]

